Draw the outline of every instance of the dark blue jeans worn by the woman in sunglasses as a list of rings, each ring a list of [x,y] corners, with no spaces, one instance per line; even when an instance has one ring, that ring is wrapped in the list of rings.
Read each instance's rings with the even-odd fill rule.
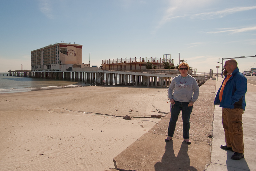
[[[182,121],[183,121],[183,138],[189,139],[189,119],[190,114],[192,112],[193,106],[188,106],[189,102],[178,102],[174,101],[174,108],[171,108],[171,118],[169,122],[169,128],[168,128],[168,136],[173,137],[176,122],[178,120],[178,116],[181,110],[182,113]]]

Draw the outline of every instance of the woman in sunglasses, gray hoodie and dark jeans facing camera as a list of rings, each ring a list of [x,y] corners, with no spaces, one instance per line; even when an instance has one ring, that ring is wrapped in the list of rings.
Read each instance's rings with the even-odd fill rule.
[[[193,104],[199,96],[199,87],[195,78],[187,74],[188,69],[188,64],[182,62],[179,65],[180,74],[173,78],[168,89],[168,96],[171,105],[173,104],[174,107],[171,108],[168,136],[165,139],[165,142],[172,140],[176,122],[181,110],[183,121],[183,138],[187,144],[191,144],[191,141],[189,140],[189,119],[193,109]]]

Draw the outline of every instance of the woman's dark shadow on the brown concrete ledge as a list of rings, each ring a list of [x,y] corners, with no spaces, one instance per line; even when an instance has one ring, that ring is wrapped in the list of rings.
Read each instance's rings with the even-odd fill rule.
[[[196,168],[190,166],[190,159],[187,154],[188,144],[185,141],[182,142],[180,150],[177,157],[174,154],[173,142],[170,141],[165,144],[165,153],[161,159],[158,161],[154,167],[155,171],[169,171],[169,170],[179,170],[179,171],[197,171]]]

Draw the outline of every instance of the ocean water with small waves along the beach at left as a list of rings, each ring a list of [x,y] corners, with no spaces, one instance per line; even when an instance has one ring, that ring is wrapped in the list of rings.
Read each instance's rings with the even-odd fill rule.
[[[80,86],[96,86],[94,82],[72,81],[70,80],[55,80],[45,78],[32,77],[16,77],[16,76],[0,76],[0,93],[14,93],[35,91],[43,89],[58,89]],[[7,74],[7,73],[5,73]]]

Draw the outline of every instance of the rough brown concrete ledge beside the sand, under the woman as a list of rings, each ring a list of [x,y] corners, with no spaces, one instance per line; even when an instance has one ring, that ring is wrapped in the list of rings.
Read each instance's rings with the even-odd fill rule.
[[[182,116],[176,123],[173,140],[165,142],[170,114],[117,155],[115,169],[122,171],[202,171],[211,161],[212,121],[216,81],[208,80],[200,89],[190,117],[190,140],[183,141]]]

